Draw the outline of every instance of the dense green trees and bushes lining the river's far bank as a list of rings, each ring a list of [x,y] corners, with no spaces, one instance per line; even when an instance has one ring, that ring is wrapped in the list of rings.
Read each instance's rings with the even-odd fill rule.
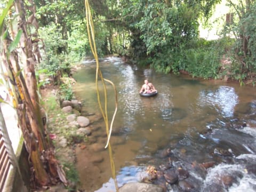
[[[83,1],[35,0],[46,47],[43,67],[53,75],[67,73],[70,63],[90,56]],[[254,79],[255,2],[230,1],[233,22],[224,22],[215,41],[199,37],[199,22],[207,21],[221,0],[94,0],[90,1],[98,54],[118,54],[137,65],[164,73],[194,77]],[[226,15],[220,15],[226,19]],[[234,35],[233,35],[234,34]],[[233,38],[233,36],[235,38]],[[230,60],[223,66],[221,60]]]

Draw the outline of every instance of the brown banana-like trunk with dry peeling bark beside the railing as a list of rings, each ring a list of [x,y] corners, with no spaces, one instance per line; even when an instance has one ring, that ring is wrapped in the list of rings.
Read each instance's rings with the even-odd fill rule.
[[[35,19],[34,2],[29,0],[29,3],[30,6],[27,7],[27,11],[31,13],[29,23],[35,27],[33,31],[37,34],[38,25]],[[33,166],[32,171],[35,183],[39,187],[47,186],[55,184],[60,179],[67,185],[65,173],[63,173],[54,157],[53,145],[47,134],[46,126],[43,124],[39,106],[35,76],[35,65],[37,63],[35,54],[37,54],[38,58],[38,52],[33,52],[35,50],[33,42],[37,41],[32,39],[37,37],[37,35],[28,34],[29,23],[26,20],[24,1],[17,0],[14,6],[19,25],[12,26],[13,23],[9,23],[9,31],[11,31],[12,37],[8,34],[4,39],[2,59],[6,77],[10,82],[10,92],[14,98],[13,104],[17,109],[19,126],[22,130],[31,165]],[[22,34],[19,44],[17,43],[18,48],[11,50],[10,47],[17,40],[15,37],[19,30],[22,30]],[[24,70],[20,66],[23,66]]]

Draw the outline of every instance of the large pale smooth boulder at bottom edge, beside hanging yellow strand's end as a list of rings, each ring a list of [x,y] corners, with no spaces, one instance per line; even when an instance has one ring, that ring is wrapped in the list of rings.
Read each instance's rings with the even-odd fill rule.
[[[150,183],[127,183],[119,188],[119,192],[164,192],[164,189]]]

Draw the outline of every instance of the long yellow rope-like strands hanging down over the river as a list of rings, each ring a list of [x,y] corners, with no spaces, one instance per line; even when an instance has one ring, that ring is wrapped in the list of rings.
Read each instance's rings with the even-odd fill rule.
[[[89,5],[88,0],[85,0],[85,10],[86,10],[86,25],[87,25],[87,33],[88,33],[89,43],[90,43],[90,46],[91,46],[92,54],[93,54],[93,56],[95,58],[95,61],[96,61],[95,84],[96,84],[96,88],[97,88],[97,98],[98,98],[100,111],[101,111],[101,114],[103,116],[103,119],[104,119],[104,122],[105,122],[105,125],[106,125],[106,132],[107,132],[107,135],[108,135],[108,140],[107,140],[105,148],[108,147],[111,172],[112,172],[112,175],[113,175],[113,179],[115,181],[116,191],[118,191],[118,186],[117,186],[117,181],[116,181],[116,174],[115,174],[115,163],[114,163],[114,159],[113,159],[111,145],[109,143],[110,136],[111,136],[111,131],[112,131],[112,127],[113,127],[113,122],[114,122],[116,111],[117,111],[117,91],[116,91],[116,87],[115,87],[113,82],[109,81],[108,79],[103,78],[100,67],[99,67],[97,47],[96,47],[95,39],[94,39],[95,36],[94,36],[93,20],[92,20],[92,15],[91,15],[90,5]],[[100,93],[99,93],[99,86],[98,86],[98,76],[100,77],[101,82],[103,84],[104,98],[105,98],[104,110],[102,108],[101,100],[100,100]],[[115,91],[115,112],[114,112],[114,115],[113,115],[112,120],[111,120],[110,131],[109,131],[109,127],[108,127],[107,89],[106,89],[105,81],[110,83],[111,85],[113,85],[114,91]]]

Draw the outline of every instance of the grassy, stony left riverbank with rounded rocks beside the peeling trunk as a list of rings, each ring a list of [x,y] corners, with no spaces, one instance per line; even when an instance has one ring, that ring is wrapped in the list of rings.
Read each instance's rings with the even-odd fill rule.
[[[74,79],[72,80],[73,83]],[[76,99],[73,94],[71,101],[60,101],[60,86],[53,84],[44,85],[41,89],[42,104],[47,115],[48,131],[56,151],[56,157],[69,180],[69,190],[84,191],[80,185],[79,178],[81,171],[77,169],[77,163],[82,162],[81,169],[88,178],[89,185],[93,185],[93,180],[100,172],[95,170],[94,163],[101,162],[102,157],[93,155],[88,145],[93,146],[93,150],[103,150],[104,144],[95,143],[95,139],[90,138],[92,132],[96,132],[100,127],[97,122],[102,119],[100,113],[90,113],[86,106]],[[105,132],[106,134],[106,132]],[[95,134],[96,135],[96,134]],[[83,154],[83,156],[79,154]],[[82,161],[77,161],[82,158]],[[92,174],[93,173],[93,174]],[[64,186],[58,185],[53,189],[66,190]]]

